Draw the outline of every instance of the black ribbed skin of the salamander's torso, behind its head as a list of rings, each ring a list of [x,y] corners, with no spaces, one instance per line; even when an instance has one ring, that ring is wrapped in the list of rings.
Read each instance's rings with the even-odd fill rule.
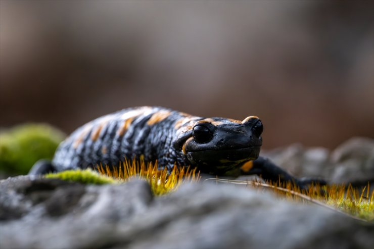
[[[147,124],[150,118],[162,111],[170,111],[164,120],[153,125]],[[128,128],[119,131],[126,120],[132,119]],[[171,167],[174,162],[184,163],[181,152],[174,149],[177,130],[175,121],[183,118],[176,111],[158,107],[129,108],[95,119],[74,131],[57,148],[52,163],[57,171],[74,168],[94,167],[97,164],[117,165],[127,159],[155,161],[161,166]],[[92,133],[102,125],[99,136],[92,139]],[[82,142],[77,144],[81,138]],[[143,156],[142,156],[143,155]]]

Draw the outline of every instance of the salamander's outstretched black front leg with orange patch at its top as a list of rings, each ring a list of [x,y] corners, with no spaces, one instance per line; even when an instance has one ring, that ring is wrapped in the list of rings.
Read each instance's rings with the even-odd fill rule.
[[[259,157],[254,161],[249,161],[245,163],[241,168],[242,175],[259,175],[265,180],[270,180],[272,182],[281,181],[281,182],[294,182],[300,188],[308,188],[308,185],[314,183],[319,185],[326,185],[326,181],[319,178],[297,178],[290,175],[284,169],[276,166],[270,160]]]

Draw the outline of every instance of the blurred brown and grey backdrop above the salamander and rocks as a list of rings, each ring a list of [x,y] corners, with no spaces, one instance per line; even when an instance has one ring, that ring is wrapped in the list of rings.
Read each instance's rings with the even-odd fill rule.
[[[126,107],[259,116],[264,147],[374,138],[371,1],[0,2],[0,127]]]

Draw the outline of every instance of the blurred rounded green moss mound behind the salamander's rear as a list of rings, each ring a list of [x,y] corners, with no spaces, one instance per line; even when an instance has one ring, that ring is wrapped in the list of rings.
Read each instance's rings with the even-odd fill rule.
[[[46,124],[25,124],[0,131],[0,171],[26,174],[39,159],[52,159],[65,135]]]

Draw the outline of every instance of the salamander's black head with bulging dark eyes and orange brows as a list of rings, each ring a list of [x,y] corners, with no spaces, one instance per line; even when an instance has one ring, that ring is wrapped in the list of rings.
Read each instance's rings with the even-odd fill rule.
[[[250,116],[243,121],[209,118],[197,121],[182,152],[199,170],[222,174],[258,158],[262,145],[263,125]]]

